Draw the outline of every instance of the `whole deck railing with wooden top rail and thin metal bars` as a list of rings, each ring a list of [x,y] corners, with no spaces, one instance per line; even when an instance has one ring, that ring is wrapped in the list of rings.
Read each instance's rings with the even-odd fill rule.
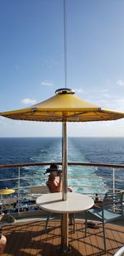
[[[24,198],[24,196],[26,197],[27,195],[29,195],[29,189],[31,186],[33,186],[34,184],[30,183],[30,179],[32,178],[32,176],[21,176],[21,169],[23,169],[23,167],[46,167],[46,166],[50,166],[52,162],[35,162],[35,163],[32,163],[32,162],[29,162],[29,163],[19,163],[19,164],[7,164],[7,165],[0,165],[0,174],[1,174],[1,171],[4,170],[4,169],[9,169],[9,168],[14,168],[14,170],[17,171],[17,176],[15,176],[14,178],[6,178],[6,179],[0,179],[0,187],[2,188],[1,186],[1,182],[8,182],[8,186],[7,187],[10,187],[9,185],[9,182],[10,181],[17,181],[17,186],[15,187],[12,187],[16,190],[16,195],[17,195],[17,200],[18,200],[18,212],[19,212],[19,201],[22,199],[22,197]],[[57,164],[61,165],[61,162],[57,162]],[[110,178],[109,177],[109,180],[112,179],[112,187],[107,187],[108,190],[111,190],[113,192],[115,191],[120,191],[120,190],[124,190],[124,179],[121,177],[121,179],[117,179],[116,178],[116,175],[115,173],[117,171],[119,171],[120,169],[124,169],[124,166],[122,165],[115,165],[115,164],[103,164],[103,163],[87,163],[87,162],[69,162],[68,163],[69,167],[102,167],[102,168],[108,168],[108,170],[111,170],[112,171],[112,177]],[[9,170],[11,171],[11,170]],[[10,175],[10,174],[9,174]],[[82,176],[82,170],[80,169],[80,172],[79,172],[79,175],[69,175],[69,178],[70,177],[73,177],[73,178],[88,178],[90,179],[91,176]],[[96,178],[96,176],[95,176]],[[102,178],[104,181],[108,181],[108,177],[100,177]],[[33,181],[35,181],[35,179],[41,179],[41,175],[33,175]],[[93,179],[93,176],[92,176],[92,179]],[[21,186],[21,180],[28,180],[28,184],[29,186]],[[119,188],[117,187],[117,182],[119,182],[120,184],[122,184],[122,186],[120,185]],[[43,184],[44,183],[44,184]],[[45,185],[45,179],[44,181],[42,180],[41,181],[41,185]],[[70,184],[71,186],[71,184]],[[73,185],[73,188],[81,188],[82,186],[79,186],[79,185]],[[83,185],[83,187],[87,187],[87,188],[91,188],[91,186],[87,186],[87,185]],[[93,187],[93,186],[92,186]],[[97,188],[95,187],[95,189],[97,190]],[[25,191],[23,193],[23,191]],[[28,192],[26,192],[28,191]],[[88,194],[88,190],[87,190],[87,194]],[[91,192],[89,193],[91,195]],[[102,195],[103,193],[101,193]],[[94,196],[94,195],[92,195]],[[4,197],[4,196],[3,196]],[[2,196],[1,196],[2,198]]]

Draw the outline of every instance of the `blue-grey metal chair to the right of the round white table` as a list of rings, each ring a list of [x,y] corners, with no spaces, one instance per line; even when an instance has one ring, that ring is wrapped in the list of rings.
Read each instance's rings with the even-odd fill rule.
[[[92,209],[86,211],[85,236],[87,235],[88,213],[90,213],[103,223],[103,244],[105,252],[107,252],[105,224],[123,217],[123,194],[123,192],[106,194],[101,207],[94,205]]]

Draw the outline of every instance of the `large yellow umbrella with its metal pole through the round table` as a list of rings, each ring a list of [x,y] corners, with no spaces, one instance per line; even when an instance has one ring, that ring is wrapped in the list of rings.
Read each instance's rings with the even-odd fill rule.
[[[57,89],[55,96],[45,101],[35,104],[27,109],[19,109],[0,113],[3,117],[31,120],[41,122],[62,122],[62,181],[63,191],[62,200],[67,200],[68,182],[68,150],[67,150],[67,122],[89,122],[89,121],[107,121],[124,118],[124,113],[102,109],[97,105],[90,104],[74,95],[71,89]],[[67,214],[63,215],[61,237],[64,251],[68,251],[68,228]]]

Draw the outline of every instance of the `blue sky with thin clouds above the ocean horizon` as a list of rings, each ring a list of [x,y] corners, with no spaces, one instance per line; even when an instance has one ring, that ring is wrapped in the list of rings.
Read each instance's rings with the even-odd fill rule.
[[[124,1],[0,0],[0,112],[24,109],[64,88],[124,112]],[[69,136],[124,137],[124,118],[69,123]],[[0,117],[0,137],[60,137],[61,123]]]

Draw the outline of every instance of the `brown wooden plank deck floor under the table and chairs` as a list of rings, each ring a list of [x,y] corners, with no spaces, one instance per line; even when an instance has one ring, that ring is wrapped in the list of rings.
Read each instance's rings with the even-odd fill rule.
[[[45,221],[33,221],[7,225],[2,233],[7,237],[7,247],[2,256],[54,256],[59,255],[60,220],[50,220],[47,233],[44,232]],[[84,237],[83,220],[76,220],[76,232],[69,226],[70,256],[79,255],[113,255],[124,245],[124,225],[107,224],[107,254],[103,253],[102,229],[88,229]]]

